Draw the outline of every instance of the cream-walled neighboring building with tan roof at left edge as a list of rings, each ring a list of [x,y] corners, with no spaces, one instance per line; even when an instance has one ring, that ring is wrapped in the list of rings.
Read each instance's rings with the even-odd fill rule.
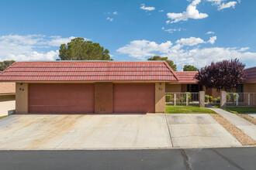
[[[16,84],[0,83],[0,116],[8,114],[15,109]]]

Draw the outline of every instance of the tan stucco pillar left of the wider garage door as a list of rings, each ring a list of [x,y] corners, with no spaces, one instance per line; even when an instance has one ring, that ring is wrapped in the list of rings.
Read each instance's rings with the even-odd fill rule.
[[[29,112],[29,84],[16,83],[16,113],[27,114]]]

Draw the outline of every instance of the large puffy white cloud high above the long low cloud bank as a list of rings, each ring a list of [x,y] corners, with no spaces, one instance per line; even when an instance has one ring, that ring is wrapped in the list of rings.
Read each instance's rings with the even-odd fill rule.
[[[194,0],[189,4],[185,12],[182,13],[171,13],[169,12],[167,14],[168,20],[167,23],[175,23],[180,21],[187,21],[188,19],[204,19],[208,17],[206,13],[200,13],[199,10],[197,10],[196,5],[198,5],[201,2],[201,0]]]

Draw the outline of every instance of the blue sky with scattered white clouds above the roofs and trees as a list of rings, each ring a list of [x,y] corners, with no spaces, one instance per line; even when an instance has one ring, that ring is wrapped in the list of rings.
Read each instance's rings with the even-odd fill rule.
[[[185,64],[239,58],[256,66],[256,1],[1,1],[0,60],[54,60],[74,37],[114,60],[168,56]]]

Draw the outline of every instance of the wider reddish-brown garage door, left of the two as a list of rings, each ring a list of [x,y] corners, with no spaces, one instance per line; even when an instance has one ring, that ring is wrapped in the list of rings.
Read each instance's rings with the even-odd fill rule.
[[[94,84],[31,83],[29,113],[94,113]]]

